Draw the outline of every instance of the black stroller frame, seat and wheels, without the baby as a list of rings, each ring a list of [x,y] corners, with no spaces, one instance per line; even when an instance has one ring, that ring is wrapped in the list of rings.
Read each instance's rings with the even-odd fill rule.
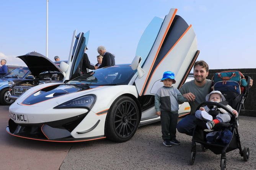
[[[248,96],[248,91],[249,91],[249,83],[250,83],[250,77],[249,76],[245,76],[245,79],[247,81],[247,86],[244,88],[244,91],[241,94],[237,94],[235,92],[230,92],[230,91],[221,91],[219,89],[217,89],[218,91],[221,91],[222,94],[226,94],[225,98],[228,102],[228,104],[230,106],[232,106],[232,108],[234,108],[235,110],[237,110],[238,112],[238,117],[239,117],[239,113],[241,108],[244,108],[244,102],[246,97]],[[217,107],[223,108],[224,110],[226,110],[230,116],[231,116],[231,120],[228,123],[217,123],[214,128],[213,131],[223,131],[225,129],[228,129],[229,131],[231,131],[232,133],[232,139],[225,143],[222,142],[216,142],[216,143],[209,143],[209,141],[207,141],[206,139],[206,135],[208,133],[210,133],[210,131],[207,129],[205,130],[205,126],[202,126],[202,120],[196,122],[197,126],[196,128],[194,128],[193,131],[193,136],[192,136],[192,149],[191,149],[191,155],[190,155],[190,165],[194,164],[195,158],[196,158],[196,142],[201,144],[202,150],[206,151],[207,149],[209,149],[210,151],[214,152],[214,154],[221,154],[220,157],[220,167],[221,170],[224,170],[226,168],[226,153],[233,151],[235,149],[239,149],[239,154],[241,155],[241,157],[243,157],[244,161],[248,161],[249,159],[249,147],[244,147],[242,149],[241,146],[241,141],[240,141],[240,136],[238,133],[238,117],[236,118],[235,115],[233,114],[233,112],[231,112],[231,110],[229,110],[225,105],[221,104],[221,103],[217,103],[217,102],[203,102],[202,104],[200,104],[197,108],[197,110],[204,106],[204,105],[215,105]],[[214,115],[212,115],[214,117]],[[204,122],[205,125],[205,122]],[[212,131],[212,133],[213,133]],[[231,136],[231,134],[230,134]]]

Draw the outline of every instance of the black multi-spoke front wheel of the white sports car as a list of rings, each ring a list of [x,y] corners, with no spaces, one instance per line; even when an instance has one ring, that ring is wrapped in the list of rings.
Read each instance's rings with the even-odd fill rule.
[[[135,134],[140,120],[135,101],[119,97],[109,108],[106,118],[106,138],[114,142],[128,141]]]

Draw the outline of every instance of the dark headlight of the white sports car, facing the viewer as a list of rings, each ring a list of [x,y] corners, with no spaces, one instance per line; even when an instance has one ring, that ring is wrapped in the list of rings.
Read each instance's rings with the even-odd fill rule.
[[[69,100],[54,108],[74,108],[75,107],[75,108],[88,108],[90,110],[95,104],[95,101],[96,101],[96,96],[94,94],[89,94],[86,96]]]

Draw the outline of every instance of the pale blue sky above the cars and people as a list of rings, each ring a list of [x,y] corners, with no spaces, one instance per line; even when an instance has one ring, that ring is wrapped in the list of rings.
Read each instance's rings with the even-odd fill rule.
[[[0,58],[36,50],[46,55],[47,0],[0,0]],[[73,31],[90,30],[86,53],[96,63],[103,45],[116,63],[130,63],[144,29],[171,8],[192,24],[200,54],[210,69],[256,68],[255,0],[49,0],[48,57],[67,60]]]

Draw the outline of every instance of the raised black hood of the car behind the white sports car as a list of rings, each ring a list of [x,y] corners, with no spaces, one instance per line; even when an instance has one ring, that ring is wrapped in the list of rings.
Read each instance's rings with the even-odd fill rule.
[[[30,52],[25,55],[18,56],[18,58],[26,63],[34,76],[38,76],[38,74],[44,71],[59,71],[62,73],[59,66],[38,52]]]

